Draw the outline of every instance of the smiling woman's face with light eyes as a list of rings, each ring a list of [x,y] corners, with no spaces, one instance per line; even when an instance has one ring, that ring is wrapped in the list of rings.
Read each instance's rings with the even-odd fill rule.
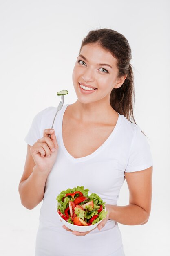
[[[112,89],[120,87],[125,79],[117,78],[118,71],[117,59],[110,52],[97,43],[84,45],[73,69],[73,85],[78,100],[82,103],[101,99],[110,102]],[[85,86],[85,90],[80,85]]]

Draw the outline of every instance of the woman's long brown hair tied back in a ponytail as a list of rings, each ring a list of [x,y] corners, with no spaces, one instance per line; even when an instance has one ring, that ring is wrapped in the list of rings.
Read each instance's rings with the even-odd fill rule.
[[[124,115],[129,121],[133,121],[136,124],[133,116],[135,93],[133,71],[130,64],[132,55],[128,40],[122,34],[112,29],[91,30],[82,40],[79,53],[84,45],[96,42],[117,59],[118,77],[127,75],[123,85],[120,88],[113,88],[111,91],[110,105],[116,112]]]

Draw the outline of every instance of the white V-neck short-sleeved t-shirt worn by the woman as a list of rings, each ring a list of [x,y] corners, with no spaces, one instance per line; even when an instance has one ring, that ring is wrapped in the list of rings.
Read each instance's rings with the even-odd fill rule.
[[[62,228],[55,205],[57,195],[68,188],[84,186],[97,193],[106,204],[117,204],[124,183],[124,172],[141,171],[152,166],[150,146],[139,126],[120,115],[106,141],[95,152],[74,158],[62,139],[62,120],[66,104],[57,113],[53,129],[57,137],[58,154],[46,180],[44,200],[40,210],[40,226],[36,239],[36,256],[124,256],[117,222],[108,220],[100,231],[75,236]],[[25,137],[33,145],[51,128],[57,108],[49,107],[33,119]]]

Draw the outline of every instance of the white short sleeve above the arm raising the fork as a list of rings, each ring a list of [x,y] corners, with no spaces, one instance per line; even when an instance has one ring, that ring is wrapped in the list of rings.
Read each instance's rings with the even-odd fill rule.
[[[33,146],[33,144],[40,139],[40,125],[42,120],[44,110],[39,112],[35,117],[33,118],[31,127],[29,128],[29,131],[24,138],[24,141],[29,144],[30,146]]]

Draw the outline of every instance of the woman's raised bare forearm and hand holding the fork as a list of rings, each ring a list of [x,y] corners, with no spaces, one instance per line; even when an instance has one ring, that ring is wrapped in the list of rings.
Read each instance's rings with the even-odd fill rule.
[[[33,209],[44,198],[46,179],[57,157],[58,144],[55,132],[44,130],[44,137],[31,147],[28,144],[24,173],[19,184],[21,203]],[[51,134],[51,138],[49,138]]]

